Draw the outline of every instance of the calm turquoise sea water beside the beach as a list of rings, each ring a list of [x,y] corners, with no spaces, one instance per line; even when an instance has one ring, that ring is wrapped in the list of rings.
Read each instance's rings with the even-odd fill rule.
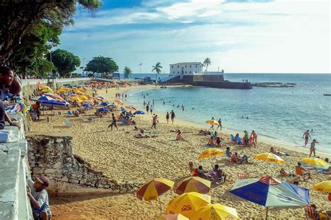
[[[303,146],[304,131],[314,129],[311,137],[318,139],[317,150],[331,153],[331,97],[323,96],[323,93],[331,93],[330,74],[226,74],[224,77],[230,81],[278,81],[297,86],[251,90],[158,88],[144,91],[149,94],[146,102],[156,100],[154,111],[164,113],[173,109],[178,118],[205,127],[205,120],[221,118],[226,129],[240,131],[240,134],[244,129],[249,132],[254,129],[260,135],[298,147]],[[130,91],[127,102],[142,108],[141,93]],[[185,111],[177,108],[182,104]]]

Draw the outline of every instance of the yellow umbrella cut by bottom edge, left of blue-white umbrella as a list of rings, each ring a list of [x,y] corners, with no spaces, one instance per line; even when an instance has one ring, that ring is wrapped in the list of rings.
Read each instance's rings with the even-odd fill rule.
[[[204,207],[200,207],[196,214],[190,219],[210,219],[210,220],[221,220],[221,219],[239,219],[237,210],[233,207],[224,206],[221,204],[207,204]]]

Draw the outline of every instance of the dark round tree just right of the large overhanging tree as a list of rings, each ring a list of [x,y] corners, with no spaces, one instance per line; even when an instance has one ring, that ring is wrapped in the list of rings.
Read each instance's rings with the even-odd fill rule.
[[[50,54],[47,54],[50,61]],[[59,71],[60,77],[69,77],[73,70],[80,66],[80,58],[64,49],[57,49],[52,52],[52,63]]]

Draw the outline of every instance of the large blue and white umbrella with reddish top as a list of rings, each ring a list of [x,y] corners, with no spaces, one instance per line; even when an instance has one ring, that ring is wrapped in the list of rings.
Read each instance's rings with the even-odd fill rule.
[[[309,190],[281,182],[269,175],[235,180],[231,194],[265,207],[303,207],[309,205]]]

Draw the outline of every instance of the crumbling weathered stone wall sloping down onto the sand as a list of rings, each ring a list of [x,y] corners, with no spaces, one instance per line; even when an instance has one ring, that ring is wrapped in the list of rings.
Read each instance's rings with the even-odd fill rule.
[[[52,194],[128,193],[138,183],[118,183],[102,172],[94,171],[88,162],[73,155],[72,136],[69,134],[27,135],[29,164],[32,175],[50,179]]]

